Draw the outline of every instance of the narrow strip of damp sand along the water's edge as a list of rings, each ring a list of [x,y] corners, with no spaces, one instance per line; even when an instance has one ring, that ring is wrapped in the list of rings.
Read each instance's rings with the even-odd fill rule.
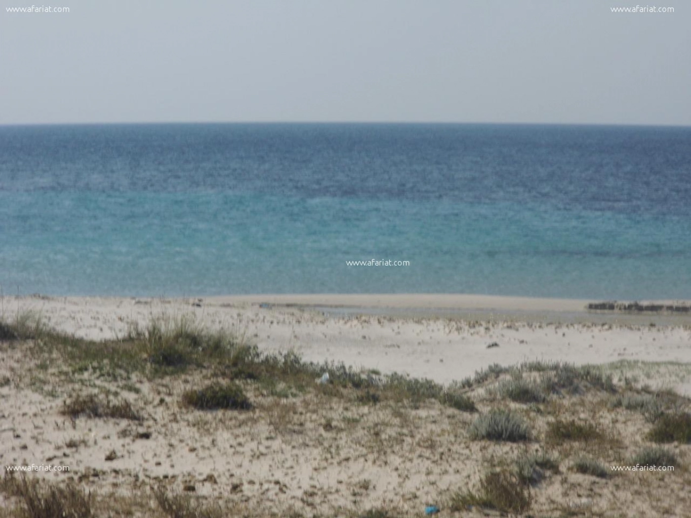
[[[313,311],[328,317],[374,316],[386,318],[479,320],[513,323],[691,325],[691,300],[593,301],[473,294],[250,294],[223,296],[134,297],[6,295],[3,312],[11,301],[77,305],[189,305],[190,307],[258,307]],[[5,304],[8,303],[8,304]],[[654,310],[649,310],[654,309]]]

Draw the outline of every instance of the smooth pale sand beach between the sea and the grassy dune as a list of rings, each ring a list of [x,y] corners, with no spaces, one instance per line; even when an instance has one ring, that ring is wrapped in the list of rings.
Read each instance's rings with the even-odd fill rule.
[[[234,329],[262,350],[439,383],[492,363],[691,362],[691,314],[602,314],[586,311],[587,303],[447,294],[26,296],[6,297],[3,308],[33,311],[50,327],[93,340],[124,336],[129,325],[151,318],[189,316],[205,327]],[[488,348],[491,343],[498,347]],[[691,394],[691,380],[652,381]]]

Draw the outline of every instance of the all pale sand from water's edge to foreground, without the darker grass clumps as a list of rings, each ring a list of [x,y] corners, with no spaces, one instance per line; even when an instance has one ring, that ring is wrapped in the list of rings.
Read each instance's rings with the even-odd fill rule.
[[[63,497],[70,506],[88,491],[97,516],[414,517],[430,504],[454,517],[498,515],[497,506],[526,516],[641,516],[651,509],[654,516],[682,516],[691,504],[683,490],[691,445],[665,446],[677,472],[607,470],[659,451],[650,450],[654,425],[643,403],[658,417],[689,407],[688,398],[669,389],[691,395],[690,318],[591,313],[585,304],[461,295],[5,297],[6,323],[32,314],[70,336],[112,340],[152,319],[187,319],[227,329],[263,352],[343,362],[367,376],[407,374],[410,385],[372,385],[372,393],[321,384],[321,370],[306,385],[287,370],[279,375],[288,377],[272,383],[266,374],[234,378],[213,360],[176,374],[146,374],[152,356],[143,349],[127,360],[134,365],[128,372],[111,365],[115,349],[108,348],[126,341],[73,345],[54,337],[57,345],[50,346],[6,334],[0,339],[0,459],[14,468],[69,467],[32,477],[46,487],[73,488],[77,497]],[[90,357],[87,349],[95,347],[102,353]],[[616,385],[597,376],[574,379],[567,381],[576,384],[569,392],[530,384],[555,380],[550,376],[557,372],[495,370],[501,373],[463,385],[458,404],[438,392],[415,399],[417,387],[428,385],[413,378],[446,385],[492,364],[535,360],[603,365]],[[186,403],[190,390],[228,376],[247,392],[250,410]],[[538,390],[535,399],[502,392],[516,378]],[[473,437],[477,420],[507,409],[529,437]],[[558,436],[560,426],[590,435]],[[583,452],[590,461],[581,459]],[[516,485],[520,459],[533,462],[539,480],[531,473]],[[543,464],[536,468],[530,459]],[[502,473],[504,490],[515,492],[478,505],[477,498],[489,498],[482,497],[489,472]],[[1,518],[28,506],[21,503],[26,495],[35,499],[18,480],[0,479]]]

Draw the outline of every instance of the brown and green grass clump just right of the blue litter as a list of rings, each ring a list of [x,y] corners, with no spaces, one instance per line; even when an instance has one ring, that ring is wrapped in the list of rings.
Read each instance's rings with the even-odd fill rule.
[[[468,506],[480,506],[500,512],[522,513],[530,505],[529,489],[514,474],[504,470],[490,472],[482,477],[477,492],[453,495],[449,508],[452,512],[462,512],[468,510]]]

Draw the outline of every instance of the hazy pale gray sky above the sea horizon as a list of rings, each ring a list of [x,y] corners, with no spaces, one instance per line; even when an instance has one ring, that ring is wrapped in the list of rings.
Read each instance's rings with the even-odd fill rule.
[[[691,124],[688,1],[40,1],[1,1],[0,124]]]

